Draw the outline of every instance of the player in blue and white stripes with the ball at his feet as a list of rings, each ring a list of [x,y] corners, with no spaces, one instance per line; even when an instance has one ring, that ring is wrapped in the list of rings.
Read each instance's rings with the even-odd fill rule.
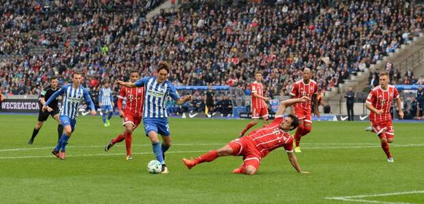
[[[124,87],[144,87],[144,107],[143,124],[146,136],[149,137],[153,146],[153,153],[156,160],[162,164],[162,174],[168,173],[168,167],[165,164],[165,151],[171,146],[170,127],[168,124],[168,113],[166,111],[166,100],[170,96],[181,105],[191,100],[191,96],[183,98],[176,92],[176,89],[170,81],[167,81],[170,68],[168,63],[159,63],[157,67],[157,76],[144,77],[135,83],[125,83],[117,81],[116,83]],[[161,134],[163,143],[159,145],[157,134]]]

